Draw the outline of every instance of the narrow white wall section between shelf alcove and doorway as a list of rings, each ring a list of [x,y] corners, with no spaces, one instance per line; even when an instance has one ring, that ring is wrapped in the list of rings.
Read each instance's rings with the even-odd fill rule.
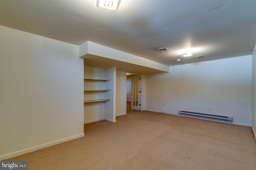
[[[126,114],[126,72],[116,71],[116,116]]]

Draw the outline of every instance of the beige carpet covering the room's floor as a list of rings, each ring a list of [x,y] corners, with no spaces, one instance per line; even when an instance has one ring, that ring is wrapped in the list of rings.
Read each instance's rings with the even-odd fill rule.
[[[148,111],[84,127],[85,137],[9,160],[29,170],[256,170],[250,127]]]

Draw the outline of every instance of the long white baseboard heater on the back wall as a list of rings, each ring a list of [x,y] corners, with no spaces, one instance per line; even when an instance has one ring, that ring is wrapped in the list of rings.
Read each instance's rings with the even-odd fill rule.
[[[222,121],[229,121],[229,122],[233,121],[233,117],[219,116],[219,115],[209,115],[209,114],[195,113],[195,112],[190,112],[190,111],[181,111],[181,110],[179,110],[179,115],[195,116],[195,117],[222,120]]]

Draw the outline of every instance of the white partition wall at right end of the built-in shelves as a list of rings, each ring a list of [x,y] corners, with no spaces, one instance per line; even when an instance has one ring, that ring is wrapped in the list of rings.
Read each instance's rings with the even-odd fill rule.
[[[111,101],[104,104],[104,120],[116,122],[116,67],[105,68],[105,78],[111,79],[105,82],[105,88],[111,89],[105,93],[105,98]]]

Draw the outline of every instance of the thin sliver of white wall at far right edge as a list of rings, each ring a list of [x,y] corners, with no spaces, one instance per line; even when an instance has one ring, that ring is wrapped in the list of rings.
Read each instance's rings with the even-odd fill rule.
[[[252,53],[252,129],[256,139],[256,45]]]

